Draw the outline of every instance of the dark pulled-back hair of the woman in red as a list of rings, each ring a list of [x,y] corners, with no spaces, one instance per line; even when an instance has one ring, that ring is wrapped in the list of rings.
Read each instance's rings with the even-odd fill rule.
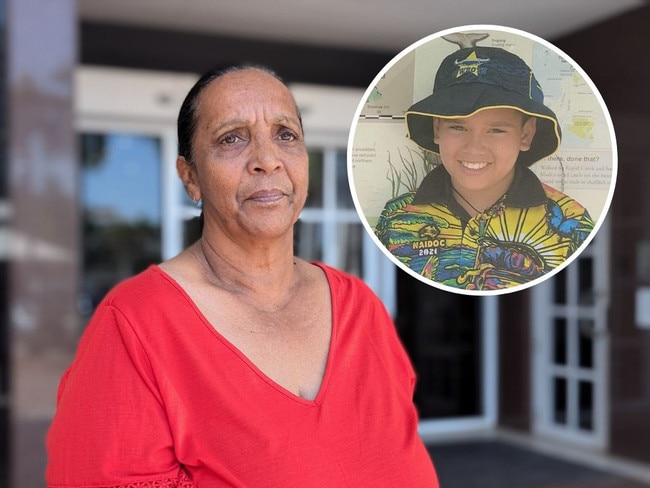
[[[188,163],[193,162],[193,140],[194,134],[196,133],[196,128],[198,124],[197,119],[197,109],[198,109],[198,99],[203,89],[207,87],[217,78],[221,78],[224,75],[229,73],[235,73],[237,71],[244,71],[248,69],[257,69],[271,75],[276,80],[280,81],[286,86],[286,83],[280,76],[278,76],[273,70],[266,68],[265,66],[256,65],[256,64],[231,64],[225,67],[217,67],[211,69],[205,73],[194,86],[187,93],[183,104],[181,105],[180,111],[178,112],[178,155],[183,156]],[[296,107],[296,111],[298,108]],[[300,112],[298,112],[298,118],[300,119]],[[302,125],[302,120],[300,121]]]

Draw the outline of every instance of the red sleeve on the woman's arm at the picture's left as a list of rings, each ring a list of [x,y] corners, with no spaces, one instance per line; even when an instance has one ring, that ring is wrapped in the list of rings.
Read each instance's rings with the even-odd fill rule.
[[[61,380],[46,447],[48,487],[195,486],[176,460],[146,350],[111,305],[100,305]]]

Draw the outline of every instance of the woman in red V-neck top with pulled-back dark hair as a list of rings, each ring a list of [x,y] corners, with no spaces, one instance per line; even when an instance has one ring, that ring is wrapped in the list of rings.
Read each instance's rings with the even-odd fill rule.
[[[48,486],[436,487],[384,307],[293,256],[308,161],[287,87],[208,73],[178,129],[202,236],[97,309],[59,388]]]

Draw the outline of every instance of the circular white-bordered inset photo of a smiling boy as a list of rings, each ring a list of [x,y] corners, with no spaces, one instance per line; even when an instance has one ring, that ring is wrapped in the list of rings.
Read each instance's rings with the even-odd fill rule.
[[[470,25],[391,60],[366,90],[348,174],[366,231],[401,269],[468,295],[528,288],[594,238],[614,192],[607,107],[549,42]]]

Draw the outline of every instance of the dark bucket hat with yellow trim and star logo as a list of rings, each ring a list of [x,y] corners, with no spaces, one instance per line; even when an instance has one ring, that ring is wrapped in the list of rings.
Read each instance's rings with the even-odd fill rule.
[[[486,108],[513,108],[538,118],[530,149],[519,153],[517,164],[530,166],[560,146],[557,116],[544,105],[544,93],[528,65],[504,49],[482,46],[459,49],[442,61],[433,93],[406,111],[408,137],[438,153],[434,117],[468,117]]]

